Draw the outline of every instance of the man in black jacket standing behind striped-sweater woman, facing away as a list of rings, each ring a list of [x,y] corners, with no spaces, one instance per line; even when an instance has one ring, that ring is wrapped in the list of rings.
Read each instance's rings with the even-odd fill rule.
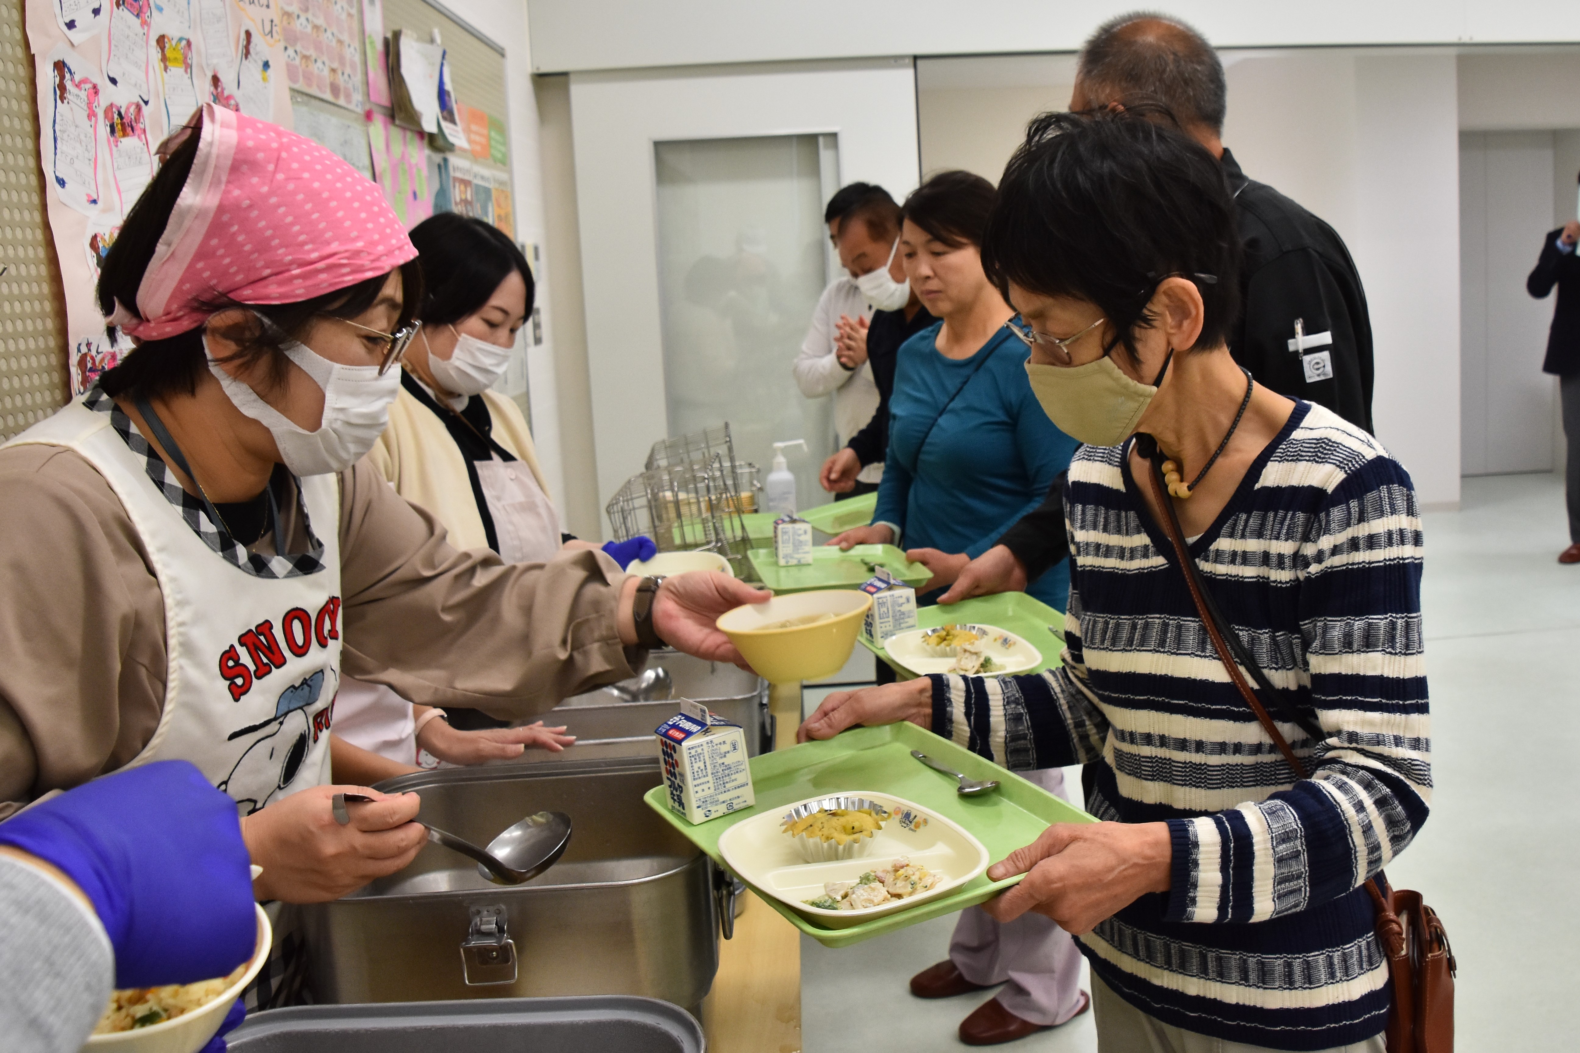
[[[1224,148],[1226,85],[1212,44],[1185,22],[1157,14],[1120,14],[1104,22],[1081,49],[1070,109],[1127,103],[1161,103],[1182,131],[1223,163],[1245,245],[1243,314],[1229,333],[1234,360],[1258,384],[1326,406],[1371,431],[1371,319],[1360,275],[1334,227],[1248,178]],[[1062,488],[1063,477],[1048,500],[969,564],[939,601],[1024,589],[1029,573],[1063,559]]]

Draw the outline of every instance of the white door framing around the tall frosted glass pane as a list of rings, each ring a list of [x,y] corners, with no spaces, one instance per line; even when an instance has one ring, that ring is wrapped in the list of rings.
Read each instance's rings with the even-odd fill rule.
[[[656,141],[836,133],[839,180],[918,183],[910,60],[574,73],[581,283],[599,494],[668,434],[654,224]],[[796,395],[788,369],[787,398]]]

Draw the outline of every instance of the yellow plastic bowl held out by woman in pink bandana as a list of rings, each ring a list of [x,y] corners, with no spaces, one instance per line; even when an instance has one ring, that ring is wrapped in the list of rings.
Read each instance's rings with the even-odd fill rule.
[[[872,597],[856,589],[823,589],[747,603],[719,617],[719,628],[758,676],[771,684],[815,680],[839,673],[856,647]],[[768,628],[779,622],[833,614],[814,625]]]

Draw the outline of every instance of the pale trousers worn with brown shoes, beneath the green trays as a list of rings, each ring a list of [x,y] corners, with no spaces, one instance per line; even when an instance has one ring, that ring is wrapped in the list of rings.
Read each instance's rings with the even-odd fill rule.
[[[1065,774],[1057,767],[1019,775],[1065,796]],[[978,906],[961,911],[950,961],[972,984],[1003,984],[999,1002],[1021,1020],[1059,1025],[1081,1009],[1081,950],[1070,933],[1041,914],[1000,924]]]

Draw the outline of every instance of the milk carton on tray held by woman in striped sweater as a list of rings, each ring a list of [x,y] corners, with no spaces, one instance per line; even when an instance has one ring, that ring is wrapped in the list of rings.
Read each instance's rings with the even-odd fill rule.
[[[654,734],[670,808],[687,821],[706,823],[757,804],[746,733],[739,725],[711,714],[706,706],[681,701],[681,712],[659,725]]]

